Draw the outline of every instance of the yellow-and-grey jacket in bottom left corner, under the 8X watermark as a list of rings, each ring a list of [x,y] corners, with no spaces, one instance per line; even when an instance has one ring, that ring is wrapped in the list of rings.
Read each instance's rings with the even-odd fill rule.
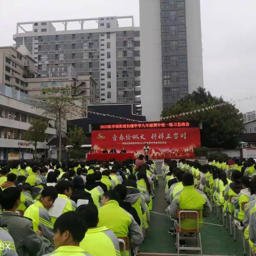
[[[1,256],[18,256],[14,241],[7,229],[0,228]]]

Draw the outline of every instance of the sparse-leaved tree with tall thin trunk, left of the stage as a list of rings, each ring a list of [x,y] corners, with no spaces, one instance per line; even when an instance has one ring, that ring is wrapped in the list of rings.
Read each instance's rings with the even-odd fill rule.
[[[62,123],[66,122],[68,118],[74,118],[81,113],[81,100],[85,97],[74,97],[78,94],[75,87],[67,85],[65,87],[46,88],[43,90],[43,95],[37,97],[42,108],[45,109],[45,115],[56,119],[59,134],[59,161],[61,161]]]

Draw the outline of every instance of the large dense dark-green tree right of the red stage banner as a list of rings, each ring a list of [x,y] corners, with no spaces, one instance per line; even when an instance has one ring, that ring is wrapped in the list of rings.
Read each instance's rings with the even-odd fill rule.
[[[226,104],[193,115],[182,115],[176,118],[175,121],[202,122],[202,146],[235,148],[239,145],[239,137],[243,133],[243,114],[234,105],[225,102],[222,97],[214,97],[202,87],[177,101],[171,108],[164,109],[162,117],[211,107],[220,103]]]

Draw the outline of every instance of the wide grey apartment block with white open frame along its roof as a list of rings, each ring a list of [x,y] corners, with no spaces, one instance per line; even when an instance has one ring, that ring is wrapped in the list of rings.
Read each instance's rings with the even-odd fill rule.
[[[130,19],[130,27],[118,21]],[[95,21],[97,28],[86,28]],[[69,25],[78,23],[78,29]],[[63,23],[63,30],[56,24]],[[25,26],[30,26],[28,31]],[[16,45],[25,42],[38,62],[38,77],[49,76],[49,67],[71,65],[78,76],[98,83],[97,102],[135,102],[140,106],[140,31],[133,17],[34,21],[17,23]]]

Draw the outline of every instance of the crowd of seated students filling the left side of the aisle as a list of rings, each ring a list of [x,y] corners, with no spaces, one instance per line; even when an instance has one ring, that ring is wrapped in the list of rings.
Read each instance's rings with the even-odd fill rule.
[[[134,255],[158,180],[140,160],[1,162],[1,255]]]

